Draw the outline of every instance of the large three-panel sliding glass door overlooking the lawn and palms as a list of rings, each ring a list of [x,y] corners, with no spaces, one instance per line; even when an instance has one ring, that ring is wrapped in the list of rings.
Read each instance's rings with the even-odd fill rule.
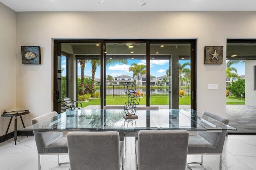
[[[54,45],[54,58],[69,55],[66,96],[83,108],[124,106],[132,85],[138,106],[196,109],[196,40],[55,40]],[[61,71],[55,64],[54,75]],[[63,90],[56,80],[58,94]],[[58,95],[54,100],[62,102]],[[60,113],[60,104],[54,102],[54,110]]]

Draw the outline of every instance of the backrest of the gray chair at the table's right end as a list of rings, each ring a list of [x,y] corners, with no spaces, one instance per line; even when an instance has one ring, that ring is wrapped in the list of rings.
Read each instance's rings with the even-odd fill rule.
[[[207,116],[206,119],[210,117],[226,125],[228,125],[229,123],[228,119],[221,117],[219,115],[216,115],[214,113],[210,113],[208,111],[205,111],[204,115]],[[202,118],[204,118],[204,115],[202,116]],[[216,153],[222,153],[227,130],[222,130],[222,132],[198,132],[198,134],[203,138],[205,138],[208,142],[210,142],[215,147]]]

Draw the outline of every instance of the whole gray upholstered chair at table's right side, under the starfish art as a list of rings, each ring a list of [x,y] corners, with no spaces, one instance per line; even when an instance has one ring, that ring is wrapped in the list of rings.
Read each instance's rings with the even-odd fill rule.
[[[203,119],[215,119],[226,125],[229,120],[210,112],[204,112]],[[188,140],[188,154],[201,155],[201,162],[189,162],[188,164],[203,164],[203,155],[218,154],[220,155],[220,170],[222,170],[222,150],[225,142],[227,130],[222,132],[198,132],[196,136],[190,136]]]

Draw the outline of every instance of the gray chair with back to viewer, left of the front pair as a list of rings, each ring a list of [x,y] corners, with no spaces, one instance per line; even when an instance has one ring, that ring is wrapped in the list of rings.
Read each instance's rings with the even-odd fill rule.
[[[124,144],[118,132],[68,132],[70,170],[120,170]]]

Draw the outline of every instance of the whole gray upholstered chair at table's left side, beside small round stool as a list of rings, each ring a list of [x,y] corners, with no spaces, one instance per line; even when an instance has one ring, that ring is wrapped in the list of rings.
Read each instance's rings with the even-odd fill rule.
[[[57,112],[50,112],[45,115],[36,117],[31,120],[32,125],[44,121],[46,119],[54,119],[57,116]],[[36,148],[38,152],[38,170],[41,169],[40,159],[44,154],[56,154],[58,155],[58,164],[60,163],[60,154],[68,154],[68,144],[66,137],[62,137],[62,132],[38,132],[34,130],[34,136],[36,141]]]

